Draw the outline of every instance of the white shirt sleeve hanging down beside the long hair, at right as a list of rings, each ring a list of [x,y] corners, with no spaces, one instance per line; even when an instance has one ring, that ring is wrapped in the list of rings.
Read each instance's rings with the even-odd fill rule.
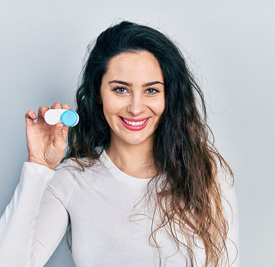
[[[219,172],[220,177],[222,178],[220,182],[222,190],[221,201],[225,211],[225,219],[228,223],[226,247],[229,265],[230,267],[239,267],[239,204],[237,190],[234,186],[235,183],[233,183],[233,177],[228,173],[228,171],[225,172],[225,170],[220,169]]]

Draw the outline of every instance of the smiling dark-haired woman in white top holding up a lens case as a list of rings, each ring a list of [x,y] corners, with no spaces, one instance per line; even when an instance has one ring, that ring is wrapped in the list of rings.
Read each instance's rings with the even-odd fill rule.
[[[0,266],[44,266],[66,230],[76,266],[239,266],[233,173],[180,50],[122,21],[89,52],[76,126],[48,125],[48,106],[36,124],[25,115],[29,156],[0,220]]]

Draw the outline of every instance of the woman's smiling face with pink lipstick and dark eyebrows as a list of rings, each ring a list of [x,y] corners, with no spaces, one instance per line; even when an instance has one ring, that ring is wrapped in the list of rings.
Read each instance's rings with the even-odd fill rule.
[[[122,53],[112,58],[100,88],[111,141],[124,140],[129,144],[152,141],[165,108],[164,90],[162,70],[149,52]],[[149,119],[141,129],[135,126],[129,129],[121,117],[139,121]]]

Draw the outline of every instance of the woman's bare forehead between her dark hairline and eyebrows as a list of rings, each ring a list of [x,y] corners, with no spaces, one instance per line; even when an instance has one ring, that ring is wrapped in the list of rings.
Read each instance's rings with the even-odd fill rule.
[[[158,60],[147,51],[124,52],[113,57],[108,64],[106,76],[108,79],[124,79],[129,82],[130,79],[164,82]]]

